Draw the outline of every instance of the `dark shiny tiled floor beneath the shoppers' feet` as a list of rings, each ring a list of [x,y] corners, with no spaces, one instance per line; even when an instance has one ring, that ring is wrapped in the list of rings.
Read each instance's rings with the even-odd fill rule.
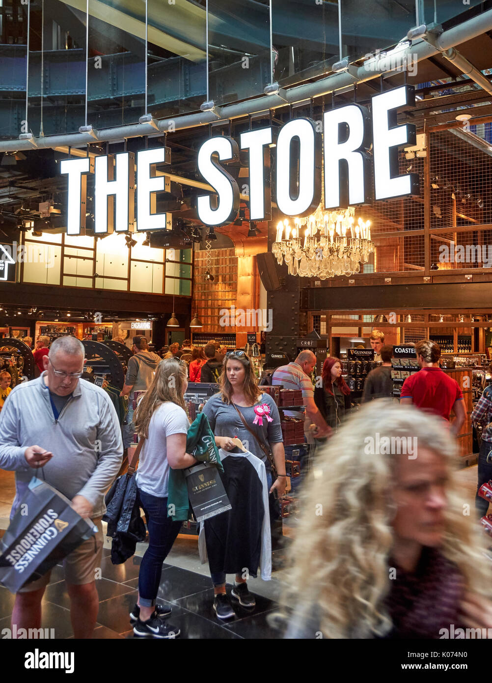
[[[94,639],[132,638],[133,630],[128,614],[138,594],[140,557],[131,557],[122,565],[113,565],[106,555],[101,563],[102,578],[96,581],[99,591],[98,624]],[[227,586],[230,595],[231,586]],[[261,596],[256,597],[254,609],[244,609],[234,598],[231,603],[235,617],[222,622],[217,619],[212,603],[214,591],[210,579],[186,569],[164,564],[158,602],[171,604],[169,624],[181,630],[182,639],[265,639],[279,637],[267,624],[267,615],[278,605]],[[0,629],[10,626],[14,596],[0,587]],[[42,627],[55,628],[56,638],[70,638],[70,600],[63,581],[63,569],[53,568],[50,584],[42,603]]]

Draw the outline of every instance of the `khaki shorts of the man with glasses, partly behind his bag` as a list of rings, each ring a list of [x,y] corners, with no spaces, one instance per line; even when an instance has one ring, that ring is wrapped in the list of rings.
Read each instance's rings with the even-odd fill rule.
[[[84,541],[73,553],[67,555],[63,560],[63,571],[65,572],[65,581],[73,585],[83,585],[84,583],[91,583],[96,578],[96,568],[101,566],[102,546],[104,545],[104,536],[102,534],[101,517],[93,519],[94,525],[98,527],[95,535]],[[19,593],[30,593],[44,588],[50,581],[51,570],[46,572],[44,576],[36,581],[31,581],[27,585],[18,590]]]

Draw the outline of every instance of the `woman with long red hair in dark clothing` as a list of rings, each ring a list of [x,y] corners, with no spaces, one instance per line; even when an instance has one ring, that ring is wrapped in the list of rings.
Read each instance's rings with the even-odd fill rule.
[[[315,389],[315,404],[336,432],[350,410],[350,389],[342,377],[342,363],[338,358],[330,356],[325,360],[321,379],[323,386]]]

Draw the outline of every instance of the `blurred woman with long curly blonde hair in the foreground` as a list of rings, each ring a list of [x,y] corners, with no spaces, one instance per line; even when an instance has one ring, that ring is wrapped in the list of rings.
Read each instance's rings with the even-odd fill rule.
[[[457,447],[442,423],[375,400],[319,453],[291,550],[287,638],[492,628],[487,537],[463,513]]]

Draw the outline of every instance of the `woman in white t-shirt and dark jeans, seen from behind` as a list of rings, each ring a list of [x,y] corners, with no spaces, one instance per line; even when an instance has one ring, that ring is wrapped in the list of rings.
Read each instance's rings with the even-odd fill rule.
[[[162,563],[173,547],[182,522],[167,516],[169,468],[184,469],[197,460],[186,453],[190,421],[185,412],[187,365],[177,358],[164,359],[154,380],[136,408],[134,424],[145,443],[140,454],[136,485],[149,530],[149,547],[139,572],[139,602],[130,618],[134,635],[175,638],[179,628],[162,621],[171,610],[156,605]]]

